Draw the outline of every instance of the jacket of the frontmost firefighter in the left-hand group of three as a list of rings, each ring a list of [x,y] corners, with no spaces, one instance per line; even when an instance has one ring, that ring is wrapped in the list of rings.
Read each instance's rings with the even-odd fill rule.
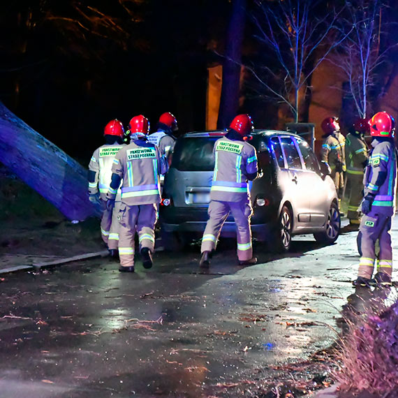
[[[168,163],[159,148],[145,140],[135,140],[117,153],[112,173],[122,180],[121,202],[128,206],[150,205],[161,201],[159,175],[168,171]],[[107,198],[117,190],[110,186]]]

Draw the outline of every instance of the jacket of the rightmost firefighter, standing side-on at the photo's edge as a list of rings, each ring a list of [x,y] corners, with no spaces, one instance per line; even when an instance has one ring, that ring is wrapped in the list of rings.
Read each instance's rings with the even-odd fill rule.
[[[374,201],[372,214],[392,216],[395,213],[395,195],[397,190],[397,156],[394,143],[388,140],[373,140],[369,165],[364,173],[364,196],[371,193]]]

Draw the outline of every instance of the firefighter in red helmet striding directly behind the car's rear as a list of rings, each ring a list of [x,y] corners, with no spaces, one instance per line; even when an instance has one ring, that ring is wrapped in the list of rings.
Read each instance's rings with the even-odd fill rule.
[[[253,129],[249,115],[237,115],[228,133],[214,144],[214,175],[210,191],[209,221],[202,238],[199,266],[208,268],[210,256],[228,214],[237,229],[237,258],[240,265],[257,263],[251,246],[251,208],[249,186],[258,175],[256,149],[247,142]]]

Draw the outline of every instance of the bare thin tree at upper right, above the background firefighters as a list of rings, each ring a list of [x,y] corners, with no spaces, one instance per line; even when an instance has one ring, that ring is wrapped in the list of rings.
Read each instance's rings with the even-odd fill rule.
[[[381,17],[385,4],[379,0],[358,0],[346,4],[341,31],[347,39],[341,43],[330,62],[343,71],[347,91],[361,118],[367,117],[369,91],[378,80],[378,67],[394,45],[381,48]],[[386,8],[385,8],[386,9]],[[349,32],[348,32],[349,31]]]

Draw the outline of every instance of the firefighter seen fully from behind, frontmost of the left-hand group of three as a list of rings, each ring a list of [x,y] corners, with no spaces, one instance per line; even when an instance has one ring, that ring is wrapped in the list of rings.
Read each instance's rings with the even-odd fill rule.
[[[107,193],[107,208],[115,204],[121,184],[119,209],[119,258],[121,272],[134,272],[134,237],[138,233],[142,263],[152,267],[158,204],[161,201],[159,177],[168,170],[168,163],[159,148],[147,142],[149,122],[143,115],[128,124],[137,139],[124,146],[112,165],[112,181]]]

